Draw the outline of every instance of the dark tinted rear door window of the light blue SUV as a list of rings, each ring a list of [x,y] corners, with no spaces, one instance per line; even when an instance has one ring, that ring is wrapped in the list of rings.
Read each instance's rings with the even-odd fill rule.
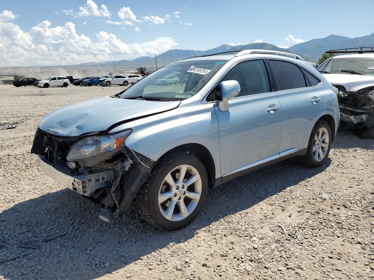
[[[304,74],[295,64],[280,60],[270,59],[268,61],[273,70],[278,90],[306,87]]]

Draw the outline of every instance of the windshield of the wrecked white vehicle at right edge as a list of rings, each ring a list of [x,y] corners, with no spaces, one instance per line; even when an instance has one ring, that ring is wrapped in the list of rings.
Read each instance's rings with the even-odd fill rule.
[[[374,76],[374,58],[333,57],[318,67],[318,71],[329,74],[353,74]]]

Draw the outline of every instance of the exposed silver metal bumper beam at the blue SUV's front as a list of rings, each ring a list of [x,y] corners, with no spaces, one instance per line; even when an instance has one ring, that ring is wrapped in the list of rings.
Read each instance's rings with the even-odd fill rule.
[[[48,176],[62,186],[84,196],[91,196],[96,190],[107,187],[114,182],[113,170],[96,172],[88,175],[68,175],[58,171],[45,156],[38,155],[39,167]]]

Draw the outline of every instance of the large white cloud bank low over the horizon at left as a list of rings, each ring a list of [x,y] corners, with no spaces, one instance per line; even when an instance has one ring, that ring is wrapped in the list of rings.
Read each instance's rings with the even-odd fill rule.
[[[159,54],[178,44],[171,37],[126,44],[105,31],[98,32],[93,42],[85,34],[77,34],[72,22],[53,27],[51,22],[43,21],[30,32],[24,32],[9,21],[14,17],[2,16],[1,19],[4,18],[0,21],[0,66],[69,65],[134,58]]]

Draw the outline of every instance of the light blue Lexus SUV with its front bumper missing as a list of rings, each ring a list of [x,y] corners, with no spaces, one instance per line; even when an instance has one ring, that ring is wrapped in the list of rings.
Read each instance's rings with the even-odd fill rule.
[[[169,76],[187,83],[155,85]],[[199,214],[208,188],[294,156],[324,164],[340,119],[336,94],[297,55],[183,59],[113,96],[48,113],[31,153],[58,183],[100,203],[102,220],[136,199],[148,223],[177,230]]]

